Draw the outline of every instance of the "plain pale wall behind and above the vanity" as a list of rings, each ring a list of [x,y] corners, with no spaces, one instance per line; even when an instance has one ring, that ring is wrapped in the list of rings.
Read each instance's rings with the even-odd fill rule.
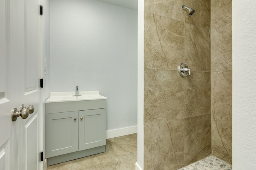
[[[99,90],[107,130],[137,125],[137,11],[50,0],[50,91]]]

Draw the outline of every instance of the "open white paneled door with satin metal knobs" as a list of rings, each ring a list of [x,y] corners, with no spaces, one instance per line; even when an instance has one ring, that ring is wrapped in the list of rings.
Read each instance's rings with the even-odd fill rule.
[[[0,170],[41,169],[40,0],[0,0]],[[11,109],[34,105],[28,118]]]

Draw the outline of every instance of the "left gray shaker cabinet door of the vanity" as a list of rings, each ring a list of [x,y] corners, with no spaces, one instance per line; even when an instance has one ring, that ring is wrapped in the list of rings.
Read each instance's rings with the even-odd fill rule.
[[[78,111],[45,115],[45,157],[78,150]]]

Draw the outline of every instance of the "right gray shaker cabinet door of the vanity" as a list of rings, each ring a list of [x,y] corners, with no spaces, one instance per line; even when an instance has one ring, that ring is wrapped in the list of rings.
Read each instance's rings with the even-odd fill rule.
[[[106,109],[78,111],[78,150],[106,145]]]

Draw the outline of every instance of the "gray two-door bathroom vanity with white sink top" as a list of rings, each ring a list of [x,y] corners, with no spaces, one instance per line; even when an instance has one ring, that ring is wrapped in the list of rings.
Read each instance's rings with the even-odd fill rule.
[[[105,151],[106,97],[98,91],[50,93],[45,102],[45,158],[57,164]]]

